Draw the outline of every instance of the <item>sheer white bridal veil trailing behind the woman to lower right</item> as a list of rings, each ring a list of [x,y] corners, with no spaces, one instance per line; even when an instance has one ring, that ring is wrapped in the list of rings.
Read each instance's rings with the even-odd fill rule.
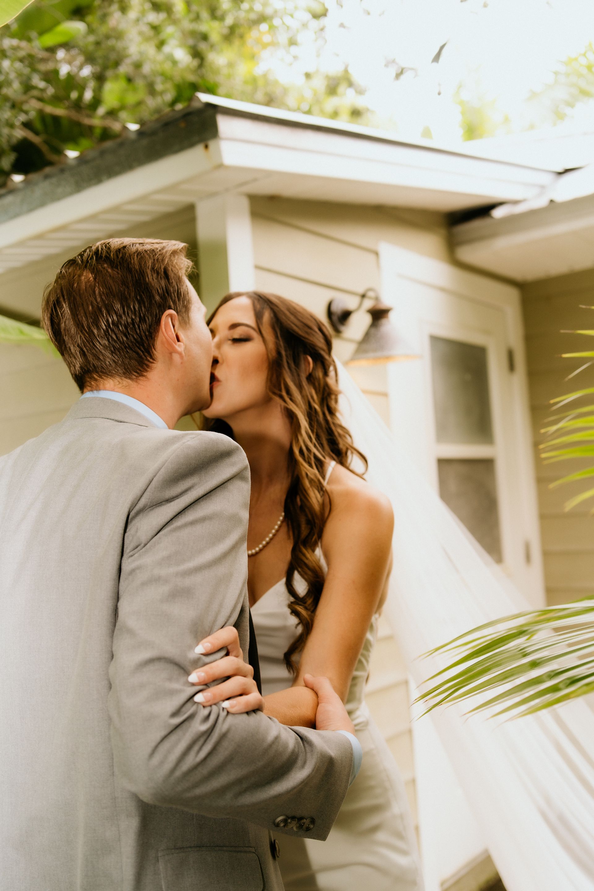
[[[421,654],[530,609],[462,527],[339,366],[341,413],[395,514],[385,614],[415,683],[445,665]],[[433,720],[508,891],[594,889],[592,699],[501,723],[437,709]]]

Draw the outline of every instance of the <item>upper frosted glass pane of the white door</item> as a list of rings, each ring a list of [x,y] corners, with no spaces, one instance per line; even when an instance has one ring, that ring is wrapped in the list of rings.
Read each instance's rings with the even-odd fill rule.
[[[492,443],[487,351],[476,344],[431,337],[438,443]]]

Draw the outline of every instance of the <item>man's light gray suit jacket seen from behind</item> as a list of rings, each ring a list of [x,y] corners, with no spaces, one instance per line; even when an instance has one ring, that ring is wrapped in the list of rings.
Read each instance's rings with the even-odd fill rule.
[[[230,439],[99,397],[0,458],[2,891],[280,889],[271,832],[328,835],[349,740],[187,681],[248,650],[248,500]]]

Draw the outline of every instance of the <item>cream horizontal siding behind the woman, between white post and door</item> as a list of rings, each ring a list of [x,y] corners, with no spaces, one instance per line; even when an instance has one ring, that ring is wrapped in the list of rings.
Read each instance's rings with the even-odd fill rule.
[[[388,241],[427,257],[451,262],[443,218],[395,208],[368,208],[284,199],[251,199],[256,285],[296,300],[324,320],[331,298],[356,298],[379,290],[378,243]],[[370,322],[354,315],[334,341],[346,361]],[[385,365],[350,370],[378,414],[389,425]],[[406,668],[387,622],[382,619],[373,652],[366,698],[403,773],[417,821],[411,718]]]

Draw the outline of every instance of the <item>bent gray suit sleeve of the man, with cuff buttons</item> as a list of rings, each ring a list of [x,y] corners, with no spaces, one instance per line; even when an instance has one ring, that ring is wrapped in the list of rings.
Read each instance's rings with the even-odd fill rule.
[[[249,471],[226,437],[175,446],[130,513],[122,554],[109,700],[118,778],[151,804],[270,830],[280,816],[313,817],[308,837],[326,838],[350,742],[193,701],[196,643],[224,625],[247,628]]]

